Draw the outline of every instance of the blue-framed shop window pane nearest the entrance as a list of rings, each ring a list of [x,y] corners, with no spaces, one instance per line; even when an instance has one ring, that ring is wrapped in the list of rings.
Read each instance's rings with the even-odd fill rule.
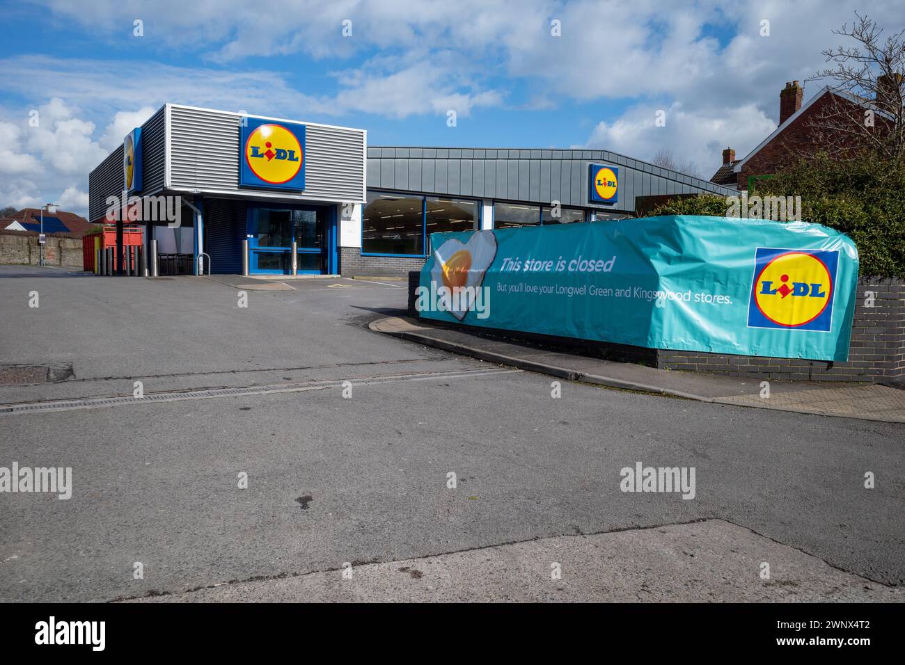
[[[424,256],[424,197],[368,193],[361,252]]]

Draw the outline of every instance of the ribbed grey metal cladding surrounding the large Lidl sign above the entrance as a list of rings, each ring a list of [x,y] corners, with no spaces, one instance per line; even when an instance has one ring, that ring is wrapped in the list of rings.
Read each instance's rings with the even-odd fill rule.
[[[365,132],[306,125],[305,190],[268,192],[239,188],[239,114],[168,107],[169,189],[222,194],[242,191],[260,198],[298,201],[362,201],[365,189]]]

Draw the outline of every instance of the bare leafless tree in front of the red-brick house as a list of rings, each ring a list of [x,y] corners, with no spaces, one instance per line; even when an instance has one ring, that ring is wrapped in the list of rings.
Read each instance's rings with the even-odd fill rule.
[[[823,51],[834,67],[813,79],[828,81],[838,94],[816,114],[812,126],[821,144],[836,157],[867,147],[881,157],[905,155],[905,30],[882,36],[883,28],[855,12],[851,28],[843,24],[834,34],[853,41]]]

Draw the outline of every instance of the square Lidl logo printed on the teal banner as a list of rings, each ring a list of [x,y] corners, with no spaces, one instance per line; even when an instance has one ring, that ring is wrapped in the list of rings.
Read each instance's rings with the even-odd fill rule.
[[[748,328],[829,332],[839,252],[758,247]]]

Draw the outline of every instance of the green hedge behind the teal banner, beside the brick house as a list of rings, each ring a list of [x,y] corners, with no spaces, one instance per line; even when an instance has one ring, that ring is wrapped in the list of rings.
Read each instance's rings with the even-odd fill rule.
[[[757,183],[750,195],[801,196],[802,219],[848,235],[858,247],[861,274],[905,277],[905,167],[875,157],[802,160]],[[672,200],[647,216],[725,216],[726,198],[701,195]]]

